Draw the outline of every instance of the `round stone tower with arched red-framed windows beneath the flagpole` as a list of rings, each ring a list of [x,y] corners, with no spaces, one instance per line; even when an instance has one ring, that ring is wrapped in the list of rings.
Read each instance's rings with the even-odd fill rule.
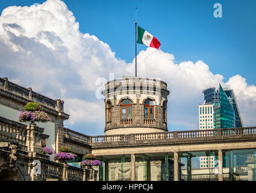
[[[105,134],[152,133],[167,129],[167,83],[123,77],[105,84]]]

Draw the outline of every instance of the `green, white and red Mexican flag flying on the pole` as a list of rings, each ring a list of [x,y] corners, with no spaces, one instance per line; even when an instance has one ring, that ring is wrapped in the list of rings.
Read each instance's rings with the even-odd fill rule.
[[[158,41],[158,39],[152,36],[152,34],[150,34],[148,31],[142,29],[139,26],[137,26],[137,31],[138,31],[137,43],[141,43],[143,45],[159,49],[161,43]]]

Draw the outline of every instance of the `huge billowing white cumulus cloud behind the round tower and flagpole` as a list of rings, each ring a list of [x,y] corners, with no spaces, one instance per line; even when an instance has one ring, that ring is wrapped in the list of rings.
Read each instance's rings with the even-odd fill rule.
[[[132,75],[135,63],[117,59],[107,43],[81,33],[75,16],[60,0],[5,8],[0,16],[0,58],[1,77],[51,98],[63,98],[71,115],[67,124],[74,127],[94,123],[104,127],[104,103],[95,98],[99,87],[95,82],[100,77],[108,80],[109,72],[115,72],[115,78]],[[177,64],[173,54],[154,48],[139,52],[137,61],[139,77],[167,82],[169,124],[197,129],[201,91],[219,83],[234,89],[244,124],[256,124],[256,88],[240,75],[223,83],[223,75],[213,74],[204,62]],[[85,128],[76,130],[90,129]]]

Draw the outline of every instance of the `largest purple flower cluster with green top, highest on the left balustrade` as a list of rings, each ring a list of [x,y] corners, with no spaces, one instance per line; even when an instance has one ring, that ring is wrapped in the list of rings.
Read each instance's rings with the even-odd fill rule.
[[[50,121],[47,113],[42,111],[42,107],[37,103],[27,103],[25,111],[19,113],[19,122],[48,122]]]

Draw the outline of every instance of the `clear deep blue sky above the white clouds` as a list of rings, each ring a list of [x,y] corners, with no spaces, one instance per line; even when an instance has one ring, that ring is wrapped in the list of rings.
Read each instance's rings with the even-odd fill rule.
[[[44,1],[1,1],[10,5],[32,5]],[[132,62],[135,52],[135,7],[138,25],[161,42],[161,49],[177,62],[202,60],[214,74],[234,74],[256,84],[256,1],[64,1],[82,33],[106,42],[116,57]],[[213,17],[213,5],[222,4],[222,18]],[[146,49],[138,45],[138,52]],[[138,64],[139,65],[139,64]],[[138,67],[139,68],[139,67]]]

